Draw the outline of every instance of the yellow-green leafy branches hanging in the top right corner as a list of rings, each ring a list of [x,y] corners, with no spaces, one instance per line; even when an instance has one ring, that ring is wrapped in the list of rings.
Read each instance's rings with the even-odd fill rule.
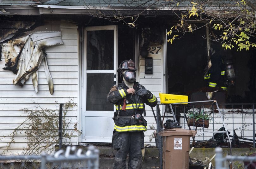
[[[210,33],[210,38],[220,40],[222,48],[225,50],[236,48],[240,51],[248,51],[256,48],[254,41],[256,37],[256,11],[247,0],[232,3],[234,8],[230,8],[230,3],[225,3],[221,10],[209,9],[207,7],[211,6],[206,6],[207,3],[201,1],[191,0],[190,3],[187,4],[187,10],[180,14],[180,20],[167,32],[168,36],[174,32],[173,28],[182,33],[196,31],[203,27],[197,25],[197,22],[199,22],[200,24],[204,23],[210,29],[216,30],[214,34]],[[180,1],[177,1],[176,5],[179,6]],[[172,44],[174,39],[173,36],[168,39],[168,42]]]

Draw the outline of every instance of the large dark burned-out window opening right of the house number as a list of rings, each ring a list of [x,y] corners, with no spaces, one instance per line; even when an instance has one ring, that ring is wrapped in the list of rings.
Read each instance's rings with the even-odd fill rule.
[[[210,88],[209,81],[204,79],[204,68],[208,62],[207,41],[203,38],[206,35],[205,28],[186,33],[183,37],[181,33],[175,35],[181,38],[174,40],[172,45],[167,44],[168,93],[188,95],[189,101],[208,100],[205,91]],[[219,92],[223,93],[219,99],[221,103],[255,102],[256,50],[224,50],[220,42],[211,43],[222,61],[231,60],[235,70],[235,84],[229,84],[227,92],[219,88]],[[195,95],[200,92],[204,94]],[[198,98],[201,96],[204,98]]]

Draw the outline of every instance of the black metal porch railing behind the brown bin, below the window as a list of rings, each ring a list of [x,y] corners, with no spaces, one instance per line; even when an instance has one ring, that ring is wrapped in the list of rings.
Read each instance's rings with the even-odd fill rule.
[[[210,103],[209,103],[210,102]],[[254,121],[254,117],[255,117],[255,111],[254,111],[254,104],[219,104],[216,102],[216,100],[213,101],[199,101],[199,102],[186,102],[186,104],[182,104],[182,103],[172,103],[172,104],[165,104],[165,111],[163,113],[163,115],[161,115],[160,113],[160,108],[159,105],[161,104],[157,104],[156,107],[156,114],[152,108],[152,112],[154,114],[155,117],[155,121],[156,121],[156,125],[157,125],[157,132],[161,131],[163,129],[163,123],[164,123],[164,119],[168,119],[168,118],[173,118],[174,121],[176,121],[176,117],[178,117],[177,121],[180,122],[180,125],[183,126],[183,128],[186,129],[189,128],[190,130],[198,130],[198,127],[195,127],[195,121],[193,122],[193,127],[190,127],[189,125],[187,125],[187,117],[186,114],[188,111],[193,112],[194,114],[196,113],[196,111],[203,111],[203,113],[209,114],[212,116],[211,118],[211,123],[210,123],[210,127],[209,128],[205,128],[204,125],[200,126],[200,129],[198,131],[198,133],[201,134],[201,136],[196,136],[192,137],[193,139],[193,143],[195,143],[195,141],[208,141],[208,140],[216,140],[216,135],[215,134],[221,134],[222,135],[222,139],[218,139],[218,141],[223,141],[228,143],[227,147],[229,147],[230,152],[229,154],[232,155],[232,144],[234,144],[235,139],[239,138],[242,140],[246,140],[246,141],[250,141],[253,143],[253,148],[255,148],[255,121]],[[227,120],[227,116],[225,116],[226,114],[231,114],[231,119],[232,122],[230,122],[230,120]],[[239,119],[239,123],[241,123],[241,126],[238,128],[234,127],[234,114],[239,114],[241,117]],[[252,123],[250,124],[246,124],[244,122],[245,116],[249,116],[248,114],[250,114],[250,120],[252,120]],[[217,119],[217,117],[219,119]],[[204,121],[203,121],[204,122]],[[227,125],[228,124],[228,125]],[[232,125],[232,128],[230,127]],[[252,139],[249,138],[245,138],[247,137],[247,134],[244,134],[244,128],[247,126],[251,126],[252,125],[252,133],[250,134],[250,137],[252,137]],[[216,129],[222,127],[222,131],[216,131]],[[236,130],[240,130],[242,133],[241,137],[237,137],[237,135],[235,136],[234,133]],[[233,135],[229,135],[230,133],[228,133],[228,131],[233,131]],[[224,137],[224,135],[226,134],[226,136]],[[255,134],[256,135],[256,134]],[[198,139],[199,137],[199,139]],[[231,139],[231,138],[232,139]],[[201,139],[200,139],[201,138]],[[159,148],[159,157],[160,157],[160,168],[162,168],[162,138],[161,136],[157,135],[157,143],[156,145]],[[232,165],[230,165],[232,166]],[[249,169],[249,168],[248,168]]]

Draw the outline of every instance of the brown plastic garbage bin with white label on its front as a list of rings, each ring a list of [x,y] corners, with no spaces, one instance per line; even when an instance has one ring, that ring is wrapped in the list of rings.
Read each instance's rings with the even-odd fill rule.
[[[158,133],[163,137],[163,169],[188,169],[190,137],[196,133],[180,128],[164,129]]]

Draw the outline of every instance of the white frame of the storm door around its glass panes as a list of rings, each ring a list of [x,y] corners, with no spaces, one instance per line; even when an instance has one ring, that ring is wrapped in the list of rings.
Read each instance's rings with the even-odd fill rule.
[[[100,31],[100,30],[113,30],[114,31],[114,67],[113,70],[86,70],[87,69],[87,32],[88,31]],[[85,128],[84,128],[84,123],[85,123],[85,116],[95,116],[95,111],[86,111],[86,75],[87,73],[114,73],[114,75],[116,75],[116,69],[117,69],[117,26],[116,25],[112,25],[112,26],[90,26],[90,27],[85,27],[84,29],[84,33],[83,33],[83,58],[82,58],[82,62],[80,64],[82,64],[82,80],[81,80],[81,97],[79,97],[80,103],[81,103],[81,109],[79,111],[79,113],[81,114],[81,120],[80,121],[80,129],[82,131],[82,135],[81,135],[81,142],[109,142],[109,138],[104,138],[101,137],[99,138],[98,141],[94,141],[94,139],[84,139],[85,137]],[[117,84],[117,78],[114,78],[114,81],[116,81]],[[115,107],[113,105],[113,111],[97,111],[97,116],[100,117],[113,117],[113,112],[115,110]],[[113,124],[114,125],[114,124]],[[95,130],[95,129],[92,129]],[[112,136],[111,136],[112,137]],[[111,141],[110,141],[111,142]]]

